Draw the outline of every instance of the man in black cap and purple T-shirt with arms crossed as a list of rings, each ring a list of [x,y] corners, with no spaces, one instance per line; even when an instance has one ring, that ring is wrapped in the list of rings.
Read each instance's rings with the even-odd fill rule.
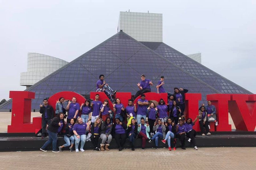
[[[147,106],[148,106],[148,100],[145,99],[145,95],[142,94],[141,98],[137,101],[138,109],[137,109],[137,124],[141,123],[141,118],[144,118],[146,120],[147,115]]]

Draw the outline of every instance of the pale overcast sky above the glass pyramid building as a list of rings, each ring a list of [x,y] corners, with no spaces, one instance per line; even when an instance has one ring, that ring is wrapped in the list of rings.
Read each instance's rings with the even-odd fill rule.
[[[163,42],[256,93],[256,1],[0,0],[0,100],[20,86],[27,53],[68,62],[117,33],[119,11],[163,14]]]

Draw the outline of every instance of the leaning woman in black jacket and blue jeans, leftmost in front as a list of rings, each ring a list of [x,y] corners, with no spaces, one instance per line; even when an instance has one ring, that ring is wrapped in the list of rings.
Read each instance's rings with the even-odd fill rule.
[[[49,139],[48,141],[46,141],[46,143],[44,143],[40,150],[47,152],[46,147],[52,143],[52,152],[59,152],[59,150],[57,150],[57,132],[59,127],[63,126],[63,123],[61,123],[61,120],[63,121],[63,118],[64,114],[59,113],[55,118],[51,120],[51,123],[47,128]]]

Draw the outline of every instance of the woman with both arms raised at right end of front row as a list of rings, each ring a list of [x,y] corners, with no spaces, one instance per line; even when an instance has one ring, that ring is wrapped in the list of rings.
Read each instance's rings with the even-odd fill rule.
[[[195,125],[195,122],[197,121],[198,117],[199,116],[197,115],[197,118],[195,118],[193,122],[191,118],[188,118],[186,122],[185,120],[183,122],[183,124],[186,126],[186,129],[187,129],[186,135],[189,138],[188,141],[194,145],[195,150],[197,150],[197,146],[195,142],[195,136],[197,135],[197,132],[193,129],[193,126]]]

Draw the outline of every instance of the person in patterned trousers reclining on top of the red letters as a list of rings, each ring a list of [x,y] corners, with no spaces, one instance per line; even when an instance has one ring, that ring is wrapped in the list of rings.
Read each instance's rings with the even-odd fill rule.
[[[104,81],[104,75],[100,75],[99,78],[100,80],[98,80],[96,83],[96,92],[104,92],[113,103],[114,100],[112,99],[110,92],[115,95],[117,90],[113,91],[112,88],[108,84],[106,84],[106,82]],[[108,89],[110,92],[108,92],[106,89]]]

